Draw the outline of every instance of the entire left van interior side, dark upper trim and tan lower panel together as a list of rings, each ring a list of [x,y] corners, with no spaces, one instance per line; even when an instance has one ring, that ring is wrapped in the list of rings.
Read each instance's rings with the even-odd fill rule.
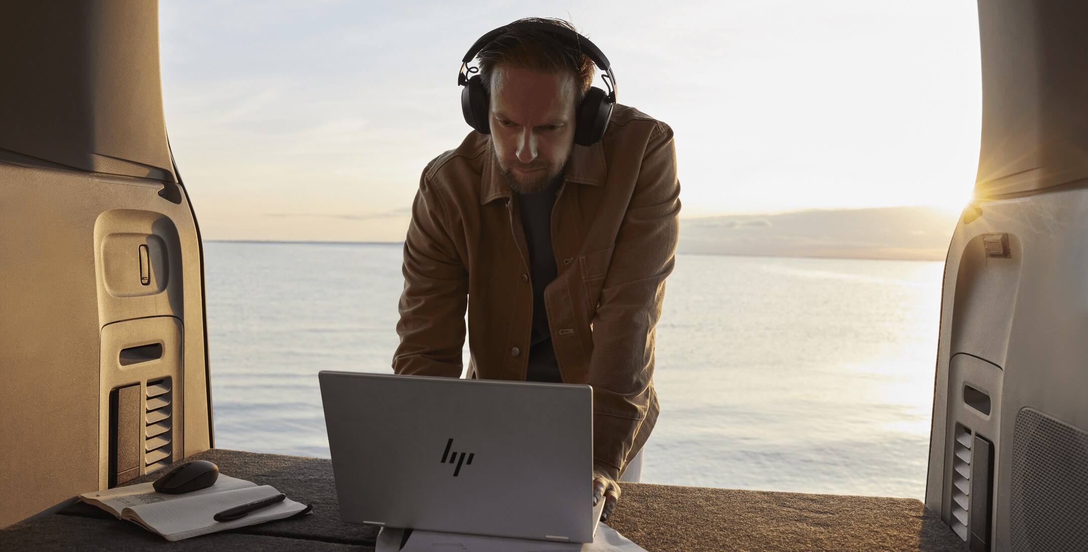
[[[0,17],[0,527],[211,446],[201,246],[166,143],[158,7],[17,12]]]

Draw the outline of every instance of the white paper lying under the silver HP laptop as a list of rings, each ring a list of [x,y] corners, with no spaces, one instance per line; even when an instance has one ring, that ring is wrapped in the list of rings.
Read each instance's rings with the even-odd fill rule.
[[[403,529],[383,528],[375,552],[397,552]],[[548,542],[456,532],[412,531],[400,552],[638,552],[645,550],[605,524],[597,526],[593,542]]]

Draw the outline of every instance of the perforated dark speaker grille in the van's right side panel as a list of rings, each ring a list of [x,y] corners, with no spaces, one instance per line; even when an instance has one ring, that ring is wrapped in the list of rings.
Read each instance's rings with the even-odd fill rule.
[[[1012,475],[1015,552],[1088,550],[1088,433],[1021,409]]]

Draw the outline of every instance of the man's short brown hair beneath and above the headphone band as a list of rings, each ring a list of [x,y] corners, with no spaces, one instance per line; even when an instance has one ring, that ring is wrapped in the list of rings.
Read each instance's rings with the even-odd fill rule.
[[[565,20],[552,17],[524,17],[514,23],[534,22],[558,25],[578,32]],[[480,79],[491,90],[491,78],[496,65],[506,64],[541,73],[570,72],[578,86],[576,101],[581,103],[593,85],[593,60],[581,50],[562,41],[552,33],[523,28],[507,28],[487,42],[477,54]]]

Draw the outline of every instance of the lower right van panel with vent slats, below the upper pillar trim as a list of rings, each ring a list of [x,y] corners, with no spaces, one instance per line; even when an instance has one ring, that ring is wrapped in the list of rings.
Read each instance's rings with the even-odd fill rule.
[[[1056,504],[1058,498],[1088,495],[1088,447],[1079,444],[1088,442],[1088,188],[981,201],[973,209],[980,214],[960,222],[944,268],[926,505],[989,550],[1056,550],[1051,545],[1062,539],[1088,537],[1084,519],[1039,525],[1076,510]],[[987,255],[985,241],[994,235],[1009,236],[1007,257],[998,254],[997,238],[990,240],[993,256]],[[962,506],[969,496],[957,491],[963,473],[989,462],[964,444],[975,438],[992,454],[992,470],[980,471],[992,478],[989,504],[969,502],[989,506],[986,536],[961,522],[985,519]],[[1058,455],[1067,461],[1033,465]],[[1036,477],[1043,471],[1049,479]],[[1014,484],[1017,478],[1033,484]],[[987,483],[968,482],[969,489]],[[1048,505],[1052,512],[1038,513]],[[1034,517],[1015,515],[1029,511]]]

